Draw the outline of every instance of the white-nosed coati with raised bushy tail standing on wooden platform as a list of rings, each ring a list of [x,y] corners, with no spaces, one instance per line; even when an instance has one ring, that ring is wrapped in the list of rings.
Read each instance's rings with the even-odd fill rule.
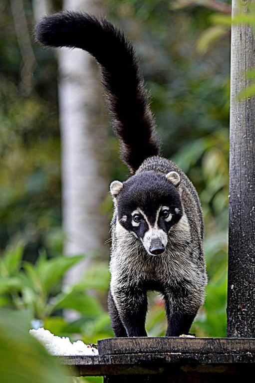
[[[113,181],[109,312],[117,337],[146,336],[147,291],[165,298],[167,336],[187,334],[204,302],[203,217],[188,177],[159,155],[153,116],[131,43],[109,21],[60,12],[35,27],[47,46],[77,47],[102,70],[113,129],[131,177]]]

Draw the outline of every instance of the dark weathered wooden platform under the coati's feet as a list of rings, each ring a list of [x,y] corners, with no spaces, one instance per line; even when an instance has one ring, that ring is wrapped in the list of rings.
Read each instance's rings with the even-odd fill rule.
[[[71,375],[108,383],[227,383],[255,374],[255,338],[110,338],[98,341],[98,351],[59,358]]]

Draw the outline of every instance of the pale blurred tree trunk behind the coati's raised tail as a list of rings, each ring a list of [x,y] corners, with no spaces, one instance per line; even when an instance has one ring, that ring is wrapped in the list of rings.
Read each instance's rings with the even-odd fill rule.
[[[64,0],[63,8],[102,12],[93,0]],[[107,223],[99,209],[107,186],[102,174],[105,165],[100,164],[106,145],[98,68],[79,49],[61,49],[58,58],[64,252],[67,256],[102,254]],[[64,286],[77,282],[88,263],[85,259],[74,266],[66,274]],[[69,320],[74,318],[68,314]]]

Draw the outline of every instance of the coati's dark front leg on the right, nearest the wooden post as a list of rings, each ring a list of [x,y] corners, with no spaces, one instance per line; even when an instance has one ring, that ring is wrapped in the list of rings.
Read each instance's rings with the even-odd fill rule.
[[[165,295],[167,331],[166,337],[179,337],[189,334],[192,322],[200,305],[191,303],[189,297]]]

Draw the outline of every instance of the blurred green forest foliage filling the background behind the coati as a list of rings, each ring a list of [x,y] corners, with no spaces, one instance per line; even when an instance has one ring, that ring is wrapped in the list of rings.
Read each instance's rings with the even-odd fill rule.
[[[31,29],[31,1],[23,3]],[[163,155],[187,173],[200,194],[209,284],[191,333],[226,336],[229,26],[218,18],[213,24],[218,29],[210,32],[215,12],[196,5],[173,11],[167,0],[110,0],[107,8],[141,57]],[[56,60],[32,43],[36,68],[28,91],[7,0],[0,3],[0,25],[0,306],[28,310],[55,335],[96,342],[113,336],[107,262],[96,259],[82,282],[61,289],[63,274],[82,257],[61,255]],[[124,180],[128,172],[110,130],[109,143],[109,181]],[[111,209],[108,195],[101,210],[110,218]],[[164,335],[163,300],[151,293],[149,307],[148,334]],[[67,323],[65,309],[80,318]]]

